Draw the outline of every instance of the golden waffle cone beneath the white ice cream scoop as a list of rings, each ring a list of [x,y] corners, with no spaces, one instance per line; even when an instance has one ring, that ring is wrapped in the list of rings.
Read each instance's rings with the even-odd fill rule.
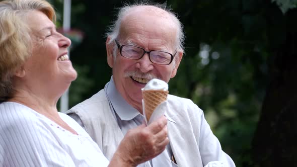
[[[145,117],[147,121],[150,120],[157,106],[167,100],[168,93],[169,93],[168,91],[161,91],[161,90],[142,91]]]

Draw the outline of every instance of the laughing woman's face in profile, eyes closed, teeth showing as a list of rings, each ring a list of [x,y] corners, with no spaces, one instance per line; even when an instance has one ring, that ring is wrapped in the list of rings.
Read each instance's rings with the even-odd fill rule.
[[[26,84],[60,96],[77,77],[68,58],[71,41],[42,12],[30,12],[26,18],[33,46],[32,56],[24,64]]]

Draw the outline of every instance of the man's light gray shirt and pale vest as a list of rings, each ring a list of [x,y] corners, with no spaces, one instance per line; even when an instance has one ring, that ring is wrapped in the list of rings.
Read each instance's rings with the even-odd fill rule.
[[[108,159],[116,151],[118,144],[124,137],[124,131],[127,131],[129,126],[133,127],[127,122],[133,121],[134,126],[137,126],[137,122],[141,123],[143,119],[143,116],[136,112],[126,115],[127,112],[124,112],[126,110],[124,107],[129,106],[122,104],[124,107],[121,105],[118,110],[116,109],[115,102],[110,100],[110,94],[106,93],[108,92],[107,89],[116,91],[114,86],[110,87],[111,82],[113,81],[111,80],[104,90],[67,111],[68,114],[77,114],[81,120],[76,120],[84,124],[87,132]],[[115,96],[116,99],[120,97],[118,93],[115,95],[117,95]],[[124,100],[123,102],[127,104]],[[166,111],[165,116],[168,118],[168,137],[171,145],[171,149],[168,150],[173,152],[178,166],[235,166],[231,157],[221,150],[220,143],[211,132],[203,111],[196,104],[189,99],[168,95],[167,105],[168,111]],[[114,109],[116,110],[114,111]],[[131,111],[136,110],[132,109]],[[121,118],[122,115],[129,118]],[[167,151],[164,152],[167,154]],[[167,156],[170,155],[167,154]]]

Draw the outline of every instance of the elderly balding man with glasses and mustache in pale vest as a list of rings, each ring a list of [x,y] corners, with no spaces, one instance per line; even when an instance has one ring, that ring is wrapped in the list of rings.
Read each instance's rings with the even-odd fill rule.
[[[106,41],[111,80],[104,90],[71,108],[77,120],[110,159],[124,134],[143,123],[141,88],[148,80],[176,75],[184,35],[177,17],[162,5],[123,7]],[[138,166],[235,166],[191,100],[168,96],[170,144]],[[143,125],[142,125],[143,126]]]

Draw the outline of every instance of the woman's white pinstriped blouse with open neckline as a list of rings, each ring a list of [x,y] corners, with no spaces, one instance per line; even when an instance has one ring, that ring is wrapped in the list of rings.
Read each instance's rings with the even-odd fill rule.
[[[0,166],[107,166],[98,145],[72,118],[60,117],[79,135],[15,102],[0,104]]]

